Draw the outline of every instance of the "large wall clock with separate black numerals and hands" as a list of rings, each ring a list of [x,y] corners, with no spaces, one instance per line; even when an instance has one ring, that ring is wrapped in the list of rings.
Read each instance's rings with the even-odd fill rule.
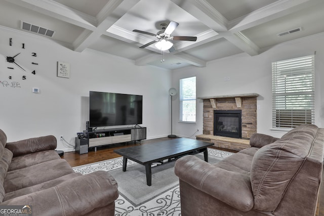
[[[35,68],[38,65],[35,62],[37,54],[26,51],[26,44],[15,42],[12,38],[9,38],[9,46],[13,48],[5,59],[7,68],[11,71],[9,79],[20,77],[22,80],[25,80],[28,75],[35,75]]]

